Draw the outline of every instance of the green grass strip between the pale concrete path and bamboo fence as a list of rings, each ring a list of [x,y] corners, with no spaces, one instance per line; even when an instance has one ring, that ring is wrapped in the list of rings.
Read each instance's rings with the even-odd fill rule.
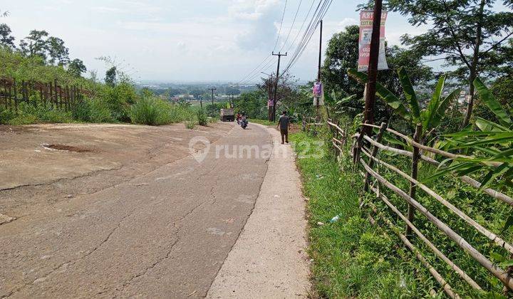
[[[358,207],[363,182],[351,172],[351,160],[337,163],[332,150],[319,149],[319,140],[302,132],[291,141],[308,198],[313,297],[423,298],[430,290],[441,295],[395,234],[372,226],[368,211]]]

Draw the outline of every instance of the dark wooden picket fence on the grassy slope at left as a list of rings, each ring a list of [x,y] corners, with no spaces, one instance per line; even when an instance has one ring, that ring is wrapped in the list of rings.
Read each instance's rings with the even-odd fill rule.
[[[56,80],[49,83],[0,79],[0,105],[18,111],[19,103],[43,103],[56,109],[71,110],[83,99],[84,90],[76,85],[59,85]]]

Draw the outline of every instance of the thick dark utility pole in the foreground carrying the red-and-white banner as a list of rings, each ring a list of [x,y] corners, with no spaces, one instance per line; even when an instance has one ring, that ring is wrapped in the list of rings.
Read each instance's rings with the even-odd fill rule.
[[[378,77],[378,57],[380,50],[381,9],[383,9],[383,0],[374,0],[373,33],[371,36],[371,53],[369,53],[365,110],[363,112],[363,122],[368,124],[374,123],[375,86]],[[363,127],[363,132],[370,134],[372,128]]]

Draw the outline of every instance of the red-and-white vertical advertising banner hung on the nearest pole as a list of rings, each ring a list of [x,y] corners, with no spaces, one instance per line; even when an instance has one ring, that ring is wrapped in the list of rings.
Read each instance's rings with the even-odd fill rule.
[[[385,21],[388,11],[381,13],[380,26],[380,51],[378,70],[388,70],[385,56]],[[360,11],[360,40],[358,41],[358,71],[368,71],[368,63],[371,55],[371,36],[373,27],[373,11]]]

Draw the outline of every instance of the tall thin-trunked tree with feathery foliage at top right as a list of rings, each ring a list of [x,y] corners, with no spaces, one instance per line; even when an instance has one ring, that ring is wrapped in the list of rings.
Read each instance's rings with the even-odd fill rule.
[[[470,101],[462,127],[468,125],[475,100],[479,76],[497,75],[505,41],[513,35],[513,12],[492,11],[496,0],[389,0],[388,7],[409,16],[413,26],[430,23],[419,36],[405,34],[402,41],[423,56],[440,57],[455,73],[466,78]],[[513,7],[513,1],[504,1]]]

